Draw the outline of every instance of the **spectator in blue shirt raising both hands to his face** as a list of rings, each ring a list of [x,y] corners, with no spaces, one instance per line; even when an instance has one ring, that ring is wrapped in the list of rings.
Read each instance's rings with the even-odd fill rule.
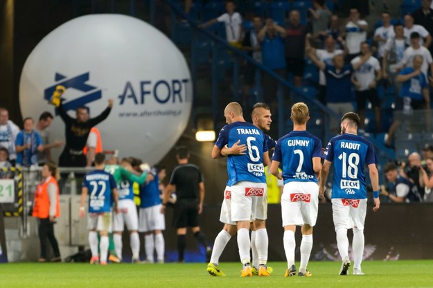
[[[262,47],[263,65],[285,78],[284,38],[286,30],[276,24],[273,19],[266,19],[265,26],[258,33],[258,41]],[[263,96],[267,103],[276,103],[276,92],[279,82],[271,75],[263,73]],[[284,91],[285,89],[283,89]]]

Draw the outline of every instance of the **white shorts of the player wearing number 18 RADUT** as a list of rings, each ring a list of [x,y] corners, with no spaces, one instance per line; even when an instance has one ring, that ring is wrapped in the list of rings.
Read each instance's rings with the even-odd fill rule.
[[[364,229],[367,199],[333,198],[335,231],[339,228]]]

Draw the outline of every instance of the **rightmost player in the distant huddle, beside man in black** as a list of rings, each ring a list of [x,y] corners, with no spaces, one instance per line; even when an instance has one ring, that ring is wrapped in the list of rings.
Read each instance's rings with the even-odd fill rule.
[[[161,213],[159,181],[166,177],[166,169],[154,167],[150,170],[153,180],[140,186],[139,231],[144,232],[146,260],[154,262],[154,251],[158,263],[164,263],[164,235],[166,217]]]

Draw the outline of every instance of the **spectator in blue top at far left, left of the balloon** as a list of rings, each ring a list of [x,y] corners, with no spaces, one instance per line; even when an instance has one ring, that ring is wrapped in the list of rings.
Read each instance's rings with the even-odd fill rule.
[[[24,118],[24,129],[21,130],[15,140],[17,149],[17,165],[30,167],[37,165],[37,154],[44,150],[42,138],[33,129],[33,118]]]

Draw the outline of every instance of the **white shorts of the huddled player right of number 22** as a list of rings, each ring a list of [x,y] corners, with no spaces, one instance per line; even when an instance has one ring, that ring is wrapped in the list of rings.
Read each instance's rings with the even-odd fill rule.
[[[136,213],[136,206],[131,199],[118,201],[118,213],[113,216],[113,231],[121,232],[126,224],[128,231],[136,231],[139,228],[139,216]]]

